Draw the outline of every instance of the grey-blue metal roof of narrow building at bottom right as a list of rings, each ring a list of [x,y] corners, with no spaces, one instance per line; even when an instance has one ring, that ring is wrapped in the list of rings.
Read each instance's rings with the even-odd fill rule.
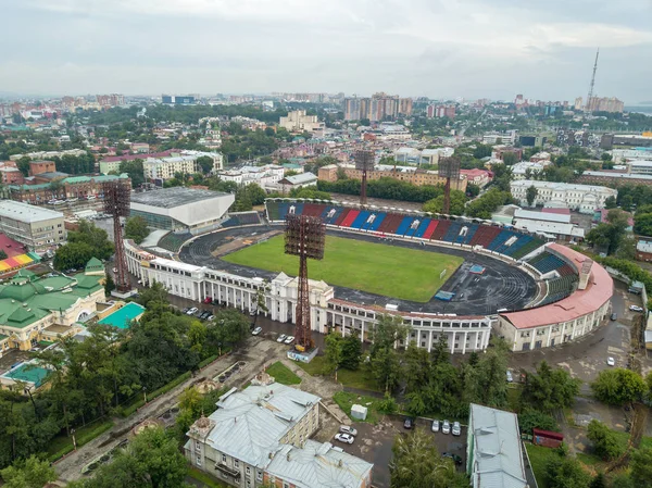
[[[525,488],[527,479],[515,413],[471,404],[472,476],[478,488]]]

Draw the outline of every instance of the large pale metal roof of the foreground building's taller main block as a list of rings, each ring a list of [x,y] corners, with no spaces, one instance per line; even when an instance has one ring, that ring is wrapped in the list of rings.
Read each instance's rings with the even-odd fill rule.
[[[218,409],[209,417],[215,427],[206,442],[252,466],[264,467],[285,434],[319,400],[277,383],[252,385],[217,403]]]

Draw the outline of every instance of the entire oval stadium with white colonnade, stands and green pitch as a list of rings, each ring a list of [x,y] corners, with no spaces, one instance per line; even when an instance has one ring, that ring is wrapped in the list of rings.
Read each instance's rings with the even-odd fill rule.
[[[298,264],[283,253],[288,214],[321,216],[327,226],[325,258],[309,263],[312,324],[321,333],[368,340],[377,315],[392,313],[412,325],[406,341],[428,350],[441,335],[451,352],[484,350],[494,334],[523,351],[573,340],[609,313],[609,274],[548,236],[318,200],[268,199],[264,217],[231,214],[220,230],[187,241],[181,263],[140,253],[147,265],[131,271],[186,290],[177,295],[252,311],[266,283],[271,317],[293,322]]]

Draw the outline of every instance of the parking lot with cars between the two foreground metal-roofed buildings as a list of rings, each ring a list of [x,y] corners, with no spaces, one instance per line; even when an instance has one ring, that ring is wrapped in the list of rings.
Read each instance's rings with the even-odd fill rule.
[[[358,436],[352,445],[338,442],[333,437],[337,433],[338,426],[324,426],[319,433],[318,440],[328,440],[335,446],[342,448],[346,452],[362,458],[369,463],[374,463],[372,483],[378,488],[389,488],[389,463],[392,458],[391,447],[399,435],[406,435],[411,430],[403,428],[402,416],[385,416],[378,424],[368,424],[366,422],[355,422],[352,426],[358,429]],[[462,458],[462,464],[457,470],[464,471],[466,463],[466,427],[462,426],[460,436],[451,434],[432,433],[430,430],[431,421],[418,418],[416,428],[423,428],[430,436],[432,442],[437,446],[440,453],[450,452]]]

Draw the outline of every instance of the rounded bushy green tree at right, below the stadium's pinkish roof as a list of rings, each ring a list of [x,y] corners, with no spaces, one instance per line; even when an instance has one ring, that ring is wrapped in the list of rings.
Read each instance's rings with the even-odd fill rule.
[[[553,370],[542,361],[537,366],[537,373],[527,375],[522,399],[530,408],[542,412],[572,406],[579,393],[580,383],[566,370]]]

